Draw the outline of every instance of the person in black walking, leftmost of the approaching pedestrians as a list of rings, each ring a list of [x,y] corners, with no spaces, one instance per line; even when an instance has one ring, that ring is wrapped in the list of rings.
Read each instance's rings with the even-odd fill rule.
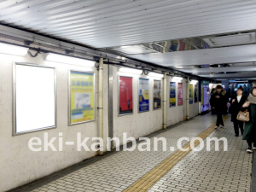
[[[226,114],[228,111],[227,102],[229,98],[226,96],[226,90],[223,89],[221,85],[217,85],[215,93],[211,96],[211,106],[217,114],[217,122],[215,129],[223,128],[224,122],[222,115]]]

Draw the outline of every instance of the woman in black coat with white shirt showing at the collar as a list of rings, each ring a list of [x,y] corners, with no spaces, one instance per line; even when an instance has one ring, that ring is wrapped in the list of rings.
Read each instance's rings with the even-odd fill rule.
[[[231,105],[230,105],[229,111],[231,113],[231,121],[234,124],[234,130],[235,130],[236,137],[239,136],[239,128],[241,131],[241,135],[243,135],[244,122],[236,119],[237,114],[241,111],[242,105],[247,100],[247,96],[243,96],[242,91],[243,91],[242,87],[239,87],[236,90],[236,96],[232,96],[231,100],[230,100]]]

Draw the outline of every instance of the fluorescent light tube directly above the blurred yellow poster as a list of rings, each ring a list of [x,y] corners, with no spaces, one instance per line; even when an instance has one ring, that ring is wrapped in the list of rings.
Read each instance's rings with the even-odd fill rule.
[[[89,61],[85,59],[79,59],[72,56],[59,55],[53,53],[45,54],[45,61],[54,61],[54,62],[62,62],[73,65],[83,65],[85,67],[94,67],[95,61]]]

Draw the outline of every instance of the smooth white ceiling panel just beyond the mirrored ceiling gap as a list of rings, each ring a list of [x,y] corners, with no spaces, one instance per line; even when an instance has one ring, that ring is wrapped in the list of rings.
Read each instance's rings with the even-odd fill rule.
[[[130,55],[131,58],[161,66],[191,66],[256,61],[256,45],[242,45],[214,49],[194,49],[148,55]]]

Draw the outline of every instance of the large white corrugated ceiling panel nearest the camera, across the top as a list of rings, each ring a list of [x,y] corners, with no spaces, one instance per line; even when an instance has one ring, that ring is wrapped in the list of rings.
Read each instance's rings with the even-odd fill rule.
[[[254,0],[2,0],[0,13],[3,24],[95,48],[256,28]]]

